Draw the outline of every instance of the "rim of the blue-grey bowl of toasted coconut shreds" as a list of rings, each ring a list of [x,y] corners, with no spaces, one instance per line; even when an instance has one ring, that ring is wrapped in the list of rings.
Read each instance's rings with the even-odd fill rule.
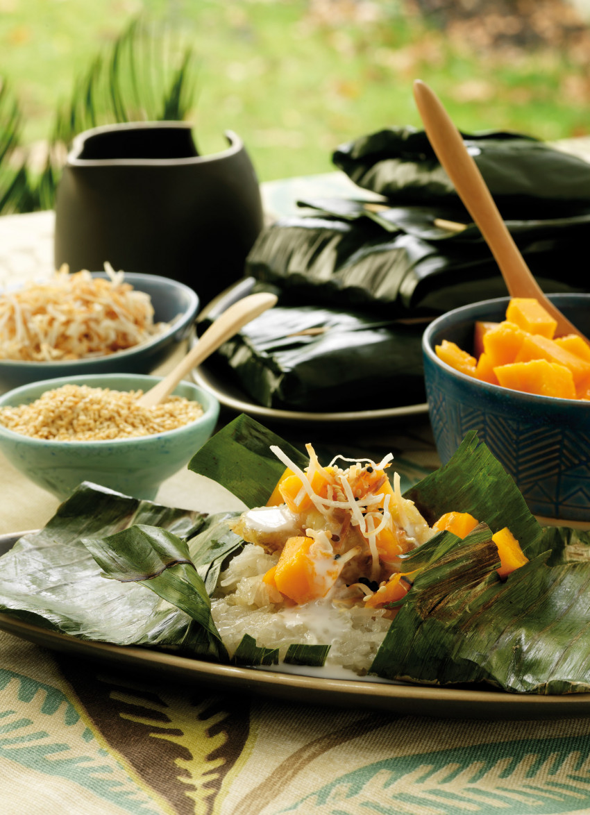
[[[106,271],[91,271],[90,275],[93,277],[101,277],[106,278],[108,277]],[[90,367],[93,363],[98,362],[99,360],[103,359],[125,359],[126,357],[133,356],[138,351],[143,350],[151,350],[158,346],[164,345],[166,341],[173,337],[175,333],[182,331],[184,328],[187,328],[189,324],[196,319],[196,315],[198,314],[200,308],[200,298],[199,295],[196,293],[194,289],[191,289],[190,286],[187,286],[184,283],[180,283],[178,280],[173,280],[170,277],[164,277],[163,275],[148,275],[146,272],[141,271],[124,271],[124,282],[128,282],[131,284],[139,284],[146,280],[155,280],[157,284],[162,285],[169,285],[172,289],[176,289],[177,291],[181,291],[187,295],[187,308],[181,311],[173,320],[171,320],[168,328],[165,329],[164,332],[160,334],[156,334],[154,337],[151,337],[149,340],[144,342],[140,342],[136,346],[130,346],[129,348],[123,348],[119,351],[114,351],[112,354],[101,354],[92,357],[81,357],[81,359],[2,359],[0,358],[0,368],[5,368],[10,370],[11,368],[20,368],[21,366],[25,366],[25,368],[30,368],[30,370],[34,370],[35,368],[39,369],[49,369],[55,371],[55,376],[59,377],[59,370],[63,369],[66,370],[68,368],[72,368],[73,366],[88,366]],[[134,289],[138,288],[137,285],[134,284]],[[10,287],[11,291],[18,291],[19,289],[24,288],[25,284],[16,285],[15,287]],[[139,291],[143,291],[143,289],[139,288]],[[2,291],[0,291],[2,294]],[[53,378],[53,377],[52,377]]]

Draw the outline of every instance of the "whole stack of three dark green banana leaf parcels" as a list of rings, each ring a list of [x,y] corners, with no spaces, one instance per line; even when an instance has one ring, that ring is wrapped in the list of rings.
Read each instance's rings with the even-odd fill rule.
[[[541,288],[588,290],[590,165],[520,134],[464,139]],[[382,130],[332,161],[376,201],[302,200],[262,231],[245,271],[280,301],[222,347],[218,372],[265,407],[425,402],[425,323],[504,281],[423,131]]]

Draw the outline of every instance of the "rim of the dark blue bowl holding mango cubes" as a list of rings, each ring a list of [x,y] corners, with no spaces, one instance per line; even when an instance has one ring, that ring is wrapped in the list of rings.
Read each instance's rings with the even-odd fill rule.
[[[551,293],[547,295],[548,298],[552,301],[556,302],[556,306],[559,306],[560,302],[566,302],[566,300],[571,300],[572,298],[582,298],[583,300],[588,302],[588,306],[590,306],[590,292],[557,292]],[[445,311],[444,314],[439,315],[436,317],[432,323],[426,326],[424,333],[422,334],[422,353],[425,355],[429,362],[433,363],[434,366],[438,368],[442,368],[444,372],[449,374],[451,377],[458,379],[465,384],[469,383],[469,385],[473,385],[473,387],[477,387],[478,390],[483,388],[484,392],[487,391],[489,394],[500,397],[503,396],[504,398],[510,394],[510,399],[516,399],[517,403],[533,403],[539,405],[549,407],[551,405],[555,407],[565,407],[573,405],[580,405],[586,404],[590,407],[590,401],[585,399],[564,399],[561,396],[543,396],[542,394],[529,394],[526,390],[512,390],[510,388],[504,388],[502,385],[493,385],[491,382],[483,382],[478,379],[474,379],[473,377],[469,377],[468,374],[462,373],[457,371],[456,368],[453,368],[448,363],[444,362],[443,359],[439,359],[434,351],[434,346],[432,342],[432,337],[438,328],[447,320],[454,319],[457,317],[460,319],[461,315],[467,314],[474,309],[479,311],[481,308],[485,310],[485,307],[490,306],[500,306],[501,304],[508,304],[511,297],[506,295],[505,297],[493,297],[490,300],[478,300],[477,302],[467,303],[465,306],[459,306],[458,308],[451,309],[450,311]],[[473,322],[477,317],[473,317]],[[586,408],[583,408],[586,409]]]

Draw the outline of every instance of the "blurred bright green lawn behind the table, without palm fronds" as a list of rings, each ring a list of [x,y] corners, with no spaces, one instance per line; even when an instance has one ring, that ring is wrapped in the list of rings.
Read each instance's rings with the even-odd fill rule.
[[[261,180],[328,172],[340,143],[420,126],[416,77],[462,130],[588,133],[579,55],[482,54],[429,29],[401,0],[0,0],[0,76],[20,99],[25,142],[49,137],[74,78],[139,14],[174,26],[195,51],[200,151],[222,148],[223,131],[235,130]]]

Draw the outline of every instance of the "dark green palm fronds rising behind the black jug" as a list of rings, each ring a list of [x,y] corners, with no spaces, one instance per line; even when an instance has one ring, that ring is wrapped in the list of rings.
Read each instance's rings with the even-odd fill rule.
[[[55,113],[42,170],[27,166],[20,108],[0,81],[0,214],[51,209],[74,136],[125,121],[183,120],[195,99],[195,55],[173,29],[138,18],[90,60]]]

